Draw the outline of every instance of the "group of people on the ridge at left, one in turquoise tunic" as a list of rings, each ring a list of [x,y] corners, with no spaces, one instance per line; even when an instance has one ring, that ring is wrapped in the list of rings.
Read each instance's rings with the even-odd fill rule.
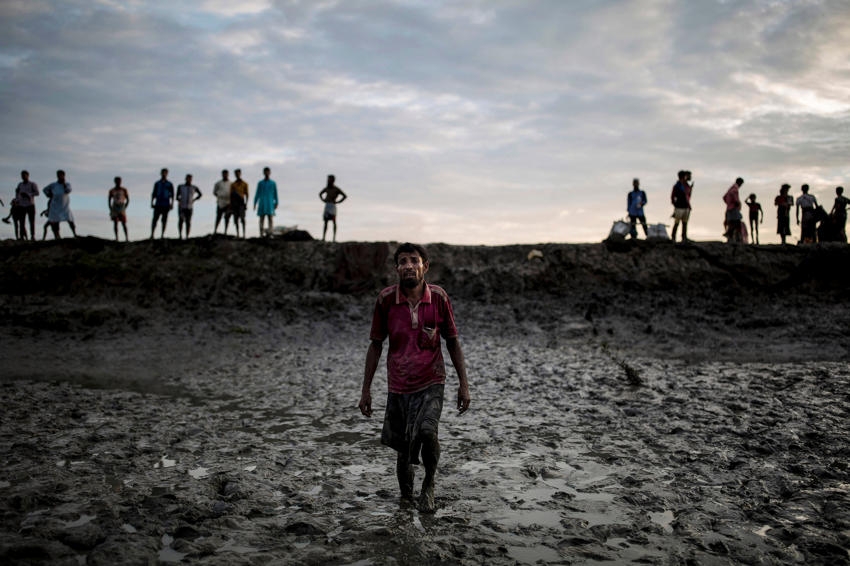
[[[246,237],[245,233],[245,211],[248,202],[248,183],[242,180],[241,170],[233,171],[235,181],[229,180],[229,171],[221,172],[221,180],[215,183],[212,189],[212,194],[216,198],[216,219],[215,228],[212,233],[218,232],[218,224],[224,217],[224,233],[227,233],[230,218],[233,218],[233,223],[236,229],[236,237],[239,237],[239,224],[241,221],[242,238]],[[275,216],[275,210],[278,207],[277,184],[272,181],[269,176],[271,170],[269,167],[263,169],[263,179],[257,183],[257,191],[254,193],[254,210],[257,210],[259,216],[260,234],[270,233],[273,227],[272,218]],[[161,237],[165,237],[165,229],[168,221],[168,213],[173,210],[174,202],[178,204],[178,238],[183,238],[184,227],[185,237],[189,238],[192,221],[192,210],[195,200],[201,199],[203,194],[201,189],[192,184],[192,176],[186,175],[185,182],[179,185],[175,193],[172,182],[168,181],[168,170],[160,171],[160,179],[154,183],[153,193],[150,195],[150,208],[153,209],[153,221],[150,224],[150,238],[154,237],[157,222],[161,221]],[[16,239],[28,239],[26,233],[26,220],[30,222],[31,239],[36,239],[36,204],[35,198],[38,196],[38,186],[30,181],[30,174],[27,171],[20,172],[21,182],[18,183],[14,191],[14,199],[12,199],[11,210],[3,222],[9,223],[9,218],[14,221],[14,237]],[[65,171],[56,171],[56,182],[49,184],[43,189],[43,193],[48,197],[47,210],[43,210],[41,216],[47,216],[47,224],[44,225],[44,234],[42,239],[47,237],[48,227],[53,228],[55,238],[59,238],[59,222],[68,222],[71,227],[71,232],[77,236],[77,228],[74,224],[74,216],[71,214],[71,183],[65,181]],[[124,238],[128,241],[127,235],[127,205],[130,204],[130,193],[127,188],[122,187],[122,178],[115,177],[115,187],[111,188],[107,196],[107,205],[110,210],[110,219],[115,229],[115,238],[118,239],[118,224],[120,223],[124,230]],[[325,210],[323,220],[325,221],[325,229],[322,233],[322,239],[325,239],[327,233],[328,222],[333,222],[333,240],[337,240],[337,205],[348,198],[348,195],[343,193],[341,188],[335,184],[335,177],[329,175],[327,177],[327,185],[319,193],[319,198],[325,202]],[[340,198],[342,197],[342,198]],[[0,205],[3,201],[0,200]],[[5,206],[5,205],[3,205]],[[267,221],[268,228],[263,231],[264,221]]]

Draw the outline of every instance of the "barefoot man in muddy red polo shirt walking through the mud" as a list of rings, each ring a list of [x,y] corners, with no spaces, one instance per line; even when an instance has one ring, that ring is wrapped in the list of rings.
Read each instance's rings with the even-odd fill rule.
[[[387,410],[383,417],[381,444],[397,451],[395,473],[401,497],[413,502],[413,465],[425,467],[425,479],[417,508],[433,513],[433,476],[439,462],[437,432],[443,412],[445,362],[439,338],[445,339],[460,387],[457,410],[469,408],[467,369],[457,339],[449,296],[436,285],[425,283],[428,251],[419,244],[401,244],[395,250],[399,284],[378,295],[366,352],[360,412],[371,417],[371,382],[381,359],[383,341],[389,337],[387,355]]]

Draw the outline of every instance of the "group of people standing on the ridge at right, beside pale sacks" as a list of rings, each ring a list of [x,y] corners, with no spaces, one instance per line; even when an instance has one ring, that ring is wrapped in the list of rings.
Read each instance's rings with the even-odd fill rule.
[[[726,214],[723,219],[725,232],[723,235],[729,242],[748,241],[748,232],[746,224],[741,216],[742,203],[740,199],[740,188],[744,184],[744,179],[738,177],[727,192],[723,195],[723,202],[726,204]],[[774,205],[777,207],[777,229],[776,232],[782,238],[782,244],[785,244],[785,238],[791,236],[791,207],[795,205],[794,198],[788,194],[791,185],[784,184],[779,189],[779,196],[774,199]],[[691,211],[691,193],[694,189],[694,182],[691,180],[690,171],[679,171],[678,181],[673,185],[672,193],[670,194],[671,203],[673,205],[673,229],[672,240],[676,241],[676,234],[679,223],[682,224],[682,241],[688,241],[688,220]],[[809,194],[808,185],[803,185],[802,195],[796,199],[796,223],[801,227],[801,242],[810,244],[818,241],[835,241],[847,242],[847,205],[850,205],[850,199],[844,196],[844,188],[836,188],[836,200],[829,214],[818,205],[818,199],[814,195]],[[638,222],[643,226],[644,235],[649,235],[649,230],[646,224],[646,216],[643,214],[643,206],[647,204],[646,193],[640,188],[640,180],[636,177],[632,181],[632,191],[626,197],[626,210],[628,211],[629,221],[632,225],[632,238],[638,237],[637,225]],[[749,208],[750,230],[753,243],[759,243],[758,227],[764,222],[764,210],[762,205],[757,202],[756,193],[751,193],[745,200],[745,204]],[[802,217],[801,217],[802,211]],[[820,222],[820,226],[817,223]]]

